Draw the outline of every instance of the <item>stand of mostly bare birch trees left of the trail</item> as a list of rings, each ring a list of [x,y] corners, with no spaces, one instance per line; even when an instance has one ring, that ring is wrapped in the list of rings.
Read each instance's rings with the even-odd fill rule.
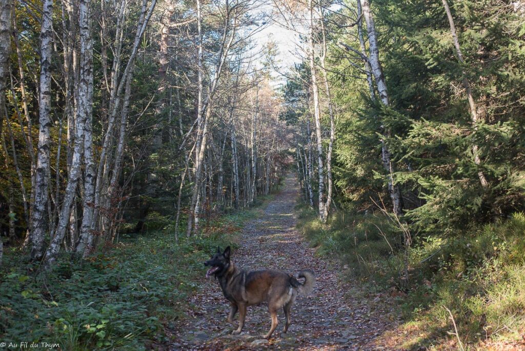
[[[262,54],[248,53],[255,6],[48,2],[39,16],[8,2],[5,240],[49,267],[123,223],[169,216],[190,236],[268,194],[287,130]]]

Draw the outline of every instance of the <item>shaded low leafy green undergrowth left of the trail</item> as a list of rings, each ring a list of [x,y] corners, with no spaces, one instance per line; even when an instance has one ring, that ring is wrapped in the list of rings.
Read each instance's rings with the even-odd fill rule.
[[[167,342],[197,290],[203,261],[232,244],[256,209],[217,216],[202,234],[175,242],[169,227],[123,234],[104,254],[62,255],[48,274],[8,250],[0,269],[0,340],[58,343],[65,350],[140,350]]]

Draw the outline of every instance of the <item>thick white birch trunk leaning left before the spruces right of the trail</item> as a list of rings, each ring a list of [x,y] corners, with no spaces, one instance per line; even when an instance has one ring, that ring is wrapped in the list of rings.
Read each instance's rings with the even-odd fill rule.
[[[383,74],[383,68],[381,61],[379,60],[379,45],[377,44],[377,33],[375,31],[374,19],[370,11],[370,4],[368,0],[363,1],[363,15],[366,22],[366,29],[368,33],[368,40],[370,44],[370,67],[372,74],[375,78],[375,84],[377,86],[377,92],[383,105],[389,106],[388,102],[388,91],[386,89],[386,80]],[[386,137],[390,137],[390,131],[386,131]],[[388,151],[384,138],[381,140],[381,158],[383,161],[383,167],[385,168],[387,179],[388,179],[388,192],[392,200],[393,211],[396,215],[403,214],[403,199],[401,197],[401,189],[399,185],[394,184],[392,174],[394,168],[392,166],[392,154]]]

